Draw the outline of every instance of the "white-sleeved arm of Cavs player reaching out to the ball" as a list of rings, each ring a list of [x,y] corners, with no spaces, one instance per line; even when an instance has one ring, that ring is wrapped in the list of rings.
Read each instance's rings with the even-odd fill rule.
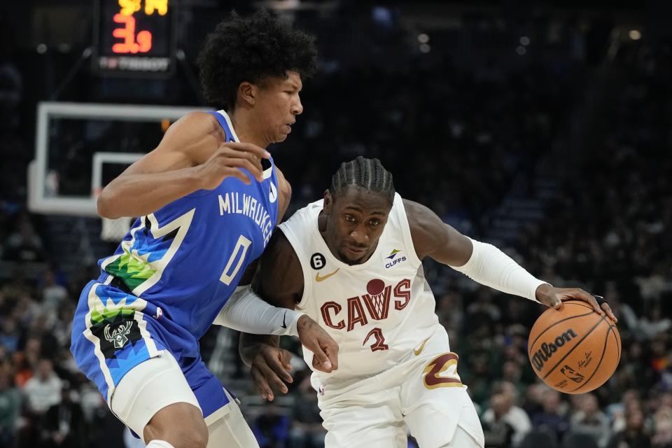
[[[616,319],[606,302],[580,288],[554,288],[536,279],[508,255],[491,244],[465,237],[447,225],[428,207],[404,202],[418,258],[426,256],[496,290],[519,295],[559,309],[563,300],[583,300],[600,314]]]

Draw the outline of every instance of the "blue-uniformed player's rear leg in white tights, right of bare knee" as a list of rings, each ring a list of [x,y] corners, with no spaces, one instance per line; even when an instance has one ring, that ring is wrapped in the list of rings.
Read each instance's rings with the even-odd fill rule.
[[[207,448],[258,448],[259,444],[248,426],[240,407],[230,393],[225,405],[225,414],[214,419],[206,419],[208,425]],[[212,420],[212,421],[211,421]]]

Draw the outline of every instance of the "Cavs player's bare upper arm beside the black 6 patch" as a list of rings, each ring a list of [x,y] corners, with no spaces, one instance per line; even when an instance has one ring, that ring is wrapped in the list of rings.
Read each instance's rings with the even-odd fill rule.
[[[258,280],[263,296],[276,306],[293,308],[303,294],[301,263],[280,229],[273,233],[261,255]]]

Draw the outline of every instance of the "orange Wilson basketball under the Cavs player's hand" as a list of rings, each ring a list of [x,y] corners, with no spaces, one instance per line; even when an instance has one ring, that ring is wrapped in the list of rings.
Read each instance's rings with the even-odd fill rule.
[[[564,393],[584,393],[605,383],[621,358],[615,323],[586,302],[569,300],[549,308],[534,323],[528,339],[532,370]]]

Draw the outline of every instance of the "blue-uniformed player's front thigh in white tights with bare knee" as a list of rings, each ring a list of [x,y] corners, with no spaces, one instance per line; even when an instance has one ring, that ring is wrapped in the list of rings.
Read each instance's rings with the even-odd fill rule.
[[[168,351],[127,372],[112,395],[110,409],[145,442],[207,432],[196,396]]]

